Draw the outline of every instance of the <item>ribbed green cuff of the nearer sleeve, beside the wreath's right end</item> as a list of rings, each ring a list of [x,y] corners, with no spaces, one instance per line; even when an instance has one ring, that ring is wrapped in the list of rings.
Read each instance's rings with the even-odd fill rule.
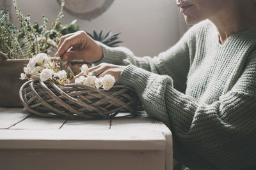
[[[132,87],[141,94],[158,76],[160,75],[130,64],[122,71],[117,83]]]

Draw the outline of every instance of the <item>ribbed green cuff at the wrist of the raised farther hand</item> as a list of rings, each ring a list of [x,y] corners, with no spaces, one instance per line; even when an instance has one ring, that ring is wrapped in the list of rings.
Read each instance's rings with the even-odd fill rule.
[[[125,59],[124,52],[118,50],[118,48],[109,47],[107,45],[104,45],[103,43],[100,43],[99,41],[96,41],[101,48],[103,52],[102,59],[98,60],[97,62],[93,62],[96,66],[99,65],[102,62],[111,63],[111,64],[117,64],[122,65],[122,60]]]

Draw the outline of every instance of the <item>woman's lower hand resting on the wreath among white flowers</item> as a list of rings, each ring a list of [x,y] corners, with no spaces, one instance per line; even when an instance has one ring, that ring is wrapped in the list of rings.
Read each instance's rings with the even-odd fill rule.
[[[118,66],[114,64],[108,64],[108,63],[101,63],[98,66],[90,67],[89,72],[92,72],[93,70],[97,71],[99,76],[98,78],[105,76],[106,74],[111,74],[116,82],[118,81],[118,78],[122,71],[125,69],[125,66]],[[69,83],[74,83],[76,78],[79,78],[79,76],[82,76],[83,73],[77,74],[72,80],[70,80]]]

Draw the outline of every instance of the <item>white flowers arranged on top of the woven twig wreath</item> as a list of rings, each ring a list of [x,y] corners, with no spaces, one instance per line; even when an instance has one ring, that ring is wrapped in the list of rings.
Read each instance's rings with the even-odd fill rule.
[[[24,73],[20,74],[21,80],[42,80],[42,81],[54,81],[59,85],[65,85],[70,81],[72,77],[68,77],[67,72],[61,70],[60,57],[56,57],[52,60],[46,53],[38,53],[35,57],[29,59],[26,67],[23,68]],[[110,74],[106,74],[104,77],[97,78],[89,72],[88,66],[84,64],[81,67],[82,76],[76,78],[76,84],[90,85],[97,89],[109,90],[115,84],[115,78]]]

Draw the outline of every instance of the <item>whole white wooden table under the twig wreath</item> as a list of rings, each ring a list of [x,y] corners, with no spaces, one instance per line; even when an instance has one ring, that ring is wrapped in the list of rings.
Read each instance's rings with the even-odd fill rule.
[[[143,112],[118,115],[71,120],[0,108],[0,169],[172,169],[170,130]]]

